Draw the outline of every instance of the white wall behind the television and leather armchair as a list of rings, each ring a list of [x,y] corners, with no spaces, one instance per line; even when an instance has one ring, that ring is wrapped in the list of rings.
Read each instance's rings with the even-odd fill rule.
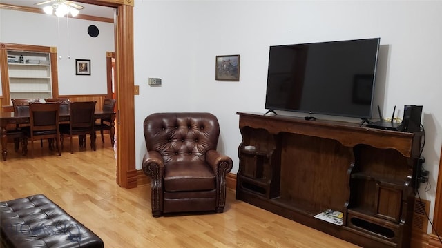
[[[207,111],[219,118],[220,149],[233,158],[236,173],[242,140],[236,112],[266,111],[269,45],[381,37],[375,104],[389,114],[396,105],[400,118],[403,105],[423,105],[424,167],[432,186],[426,192],[422,185],[420,194],[434,203],[442,139],[441,12],[442,1],[135,0],[137,169],[148,114]],[[241,56],[240,81],[215,81],[215,56],[229,54]],[[149,77],[162,78],[162,87],[149,87]]]

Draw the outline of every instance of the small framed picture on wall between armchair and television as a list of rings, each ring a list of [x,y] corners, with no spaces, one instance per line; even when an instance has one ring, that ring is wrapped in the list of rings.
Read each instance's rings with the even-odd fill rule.
[[[240,81],[240,55],[216,56],[215,80]]]

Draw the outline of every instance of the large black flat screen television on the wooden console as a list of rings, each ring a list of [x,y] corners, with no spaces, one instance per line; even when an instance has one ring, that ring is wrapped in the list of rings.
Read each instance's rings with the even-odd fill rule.
[[[265,108],[371,118],[379,41],[271,46]]]

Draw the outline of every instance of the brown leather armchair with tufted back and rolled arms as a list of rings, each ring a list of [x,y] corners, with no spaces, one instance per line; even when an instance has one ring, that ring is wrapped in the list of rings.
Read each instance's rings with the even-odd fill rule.
[[[209,113],[156,113],[144,120],[152,215],[215,211],[226,203],[231,158],[216,151],[220,125]]]

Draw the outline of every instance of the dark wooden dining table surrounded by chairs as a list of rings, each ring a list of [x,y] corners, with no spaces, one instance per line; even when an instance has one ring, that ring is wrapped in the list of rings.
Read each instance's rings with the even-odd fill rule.
[[[111,143],[112,146],[115,144],[115,112],[106,111],[106,110],[95,110],[94,118],[95,120],[106,118],[111,119]],[[69,112],[68,111],[60,111],[59,112],[59,122],[66,123],[69,122]],[[0,143],[1,143],[1,156],[3,157],[3,161],[6,161],[8,157],[8,136],[6,127],[9,124],[21,125],[21,124],[29,124],[30,116],[29,113],[17,114],[15,112],[0,112]]]

